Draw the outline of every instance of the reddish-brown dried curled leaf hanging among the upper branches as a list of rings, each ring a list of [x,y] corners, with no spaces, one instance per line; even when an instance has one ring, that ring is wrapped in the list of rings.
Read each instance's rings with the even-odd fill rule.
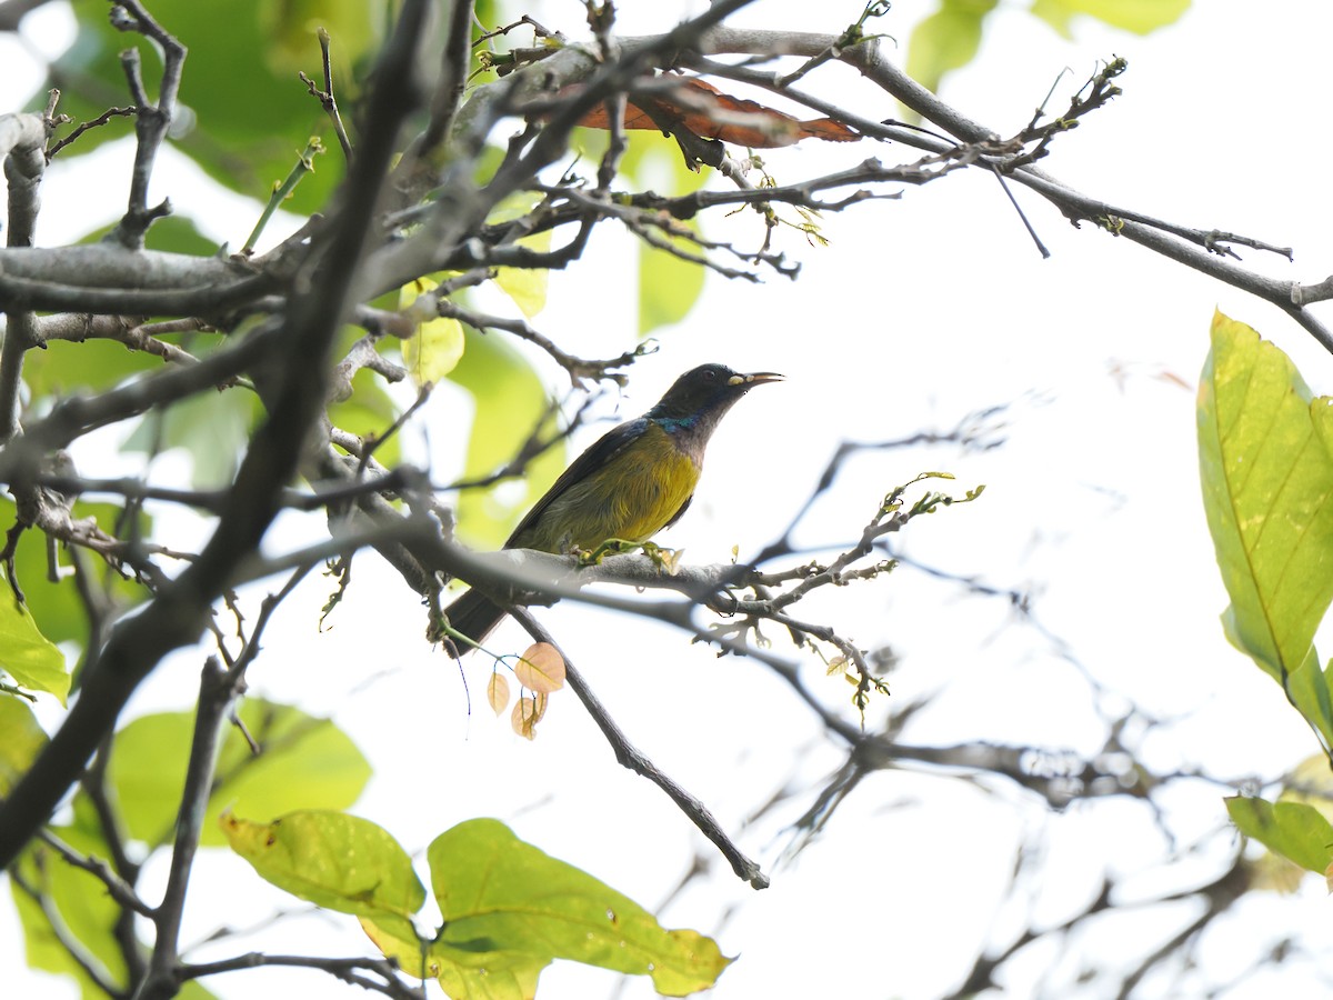
[[[608,128],[607,107],[599,105],[579,120],[588,128]],[[625,128],[684,129],[702,139],[774,149],[802,139],[854,143],[861,136],[833,119],[801,121],[757,101],[722,93],[698,77],[682,77],[670,91],[643,93],[625,103]]]

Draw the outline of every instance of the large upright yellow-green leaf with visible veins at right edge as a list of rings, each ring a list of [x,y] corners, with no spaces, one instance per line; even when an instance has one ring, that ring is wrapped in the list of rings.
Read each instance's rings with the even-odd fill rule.
[[[1302,699],[1326,701],[1313,639],[1333,600],[1333,463],[1310,391],[1245,324],[1217,313],[1212,341],[1198,388],[1198,464],[1232,599],[1224,625],[1276,680],[1300,669],[1292,681]]]

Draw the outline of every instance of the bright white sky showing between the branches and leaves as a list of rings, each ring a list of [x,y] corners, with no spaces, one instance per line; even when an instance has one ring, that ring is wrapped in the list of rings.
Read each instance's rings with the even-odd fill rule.
[[[623,31],[674,21],[629,9],[649,7],[657,5],[625,4]],[[928,9],[925,0],[900,0],[874,27],[905,41]],[[860,3],[757,3],[736,23],[837,31],[858,11]],[[44,12],[27,33],[49,41],[65,20]],[[581,7],[548,4],[543,21],[579,33]],[[1294,265],[1241,253],[1248,267],[1317,281],[1333,272],[1324,127],[1330,36],[1333,11],[1324,4],[1198,0],[1177,25],[1146,39],[1084,20],[1066,43],[1009,4],[988,23],[980,57],[946,80],[942,96],[1009,135],[1026,124],[1062,68],[1070,75],[1050,104],[1056,111],[1098,59],[1125,56],[1125,95],[1061,136],[1044,167],[1117,205],[1292,245]],[[0,44],[0,93],[12,105],[31,80],[20,79],[28,71],[12,40]],[[869,117],[896,113],[841,67],[805,84]],[[805,143],[765,160],[782,180],[812,173],[812,164],[834,169],[900,155],[906,153],[869,141],[852,149]],[[131,151],[121,144],[99,156],[109,172],[99,191],[87,184],[88,160],[52,171],[39,227],[44,243],[76,239],[121,211]],[[164,161],[156,197],[188,207],[216,239],[243,241],[257,205],[204,204],[199,191],[179,157]],[[956,473],[960,493],[985,483],[980,503],[913,523],[897,545],[930,565],[1030,591],[1040,623],[1112,692],[1106,711],[1122,696],[1174,720],[1148,741],[1150,764],[1274,777],[1316,747],[1276,685],[1221,636],[1225,595],[1198,501],[1194,399],[1174,379],[1194,385],[1214,307],[1290,353],[1316,392],[1333,381],[1329,359],[1277,309],[1089,225],[1076,231],[1044,201],[1016,191],[1050,260],[1040,257],[994,180],[968,172],[906,188],[900,201],[825,216],[828,249],[786,236],[784,248],[804,263],[794,284],[710,279],[689,319],[660,332],[661,351],[636,368],[617,416],[641,412],[677,373],[702,361],[780,371],[789,381],[754,392],[733,411],[714,439],[694,505],[660,540],[684,547],[689,561],[725,560],[733,544],[744,559],[782,531],[838,441],[942,431],[969,411],[1012,404],[1008,443],[997,451],[857,459],[798,540],[846,543],[890,487],[924,469]],[[760,236],[745,216],[705,225],[742,245]],[[636,324],[629,260],[628,237],[603,227],[585,260],[553,276],[537,325],[576,353],[625,349]],[[553,371],[551,383],[563,388]],[[428,408],[440,481],[455,471],[449,461],[457,452],[448,449],[457,447],[451,421],[465,413],[460,396],[441,391]],[[601,409],[612,415],[609,401]],[[603,429],[585,428],[580,447]],[[419,431],[408,443],[427,455]],[[100,472],[88,464],[81,471]],[[272,541],[295,545],[305,531],[284,520]],[[252,607],[261,593],[252,593]],[[988,796],[957,781],[884,772],[862,784],[794,864],[778,864],[788,844],[782,823],[804,811],[841,760],[785,685],[756,664],[717,660],[648,623],[613,621],[568,601],[541,612],[625,732],[773,876],[773,887],[756,893],[656,788],[616,765],[572,695],[553,700],[537,741],[527,743],[485,708],[488,668],[480,657],[467,665],[467,715],[457,669],[421,639],[425,619],[416,597],[373,559],[359,561],[333,628],[317,633],[325,596],[327,585],[315,581],[288,603],[251,689],[332,713],[353,736],[376,767],[355,812],[413,851],[457,821],[493,815],[649,908],[697,852],[712,865],[709,876],[661,917],[716,933],[728,955],[741,956],[714,991],[718,1000],[930,997],[953,988],[977,941],[1005,947],[1014,921],[1025,919],[1028,901],[1004,903],[1000,893],[1021,837],[1042,824],[1049,824],[1049,868],[1030,900],[1041,923],[1074,912],[1104,871],[1141,872],[1126,885],[1145,895],[1201,881],[1226,844],[1221,792],[1213,788],[1181,788],[1169,797],[1184,843],[1216,829],[1212,849],[1202,860],[1162,864],[1161,836],[1140,804],[1098,801],[1052,819],[1004,785]],[[1000,599],[966,596],[901,569],[810,601],[805,616],[816,612],[861,644],[888,643],[902,656],[894,699],[876,701],[872,724],[896,699],[936,692],[909,731],[914,741],[992,739],[1078,752],[1101,743],[1088,684],[1052,640],[1014,620]],[[785,652],[778,631],[770,635]],[[500,633],[496,648],[504,636],[520,648],[516,629]],[[199,651],[173,657],[136,696],[133,711],[185,708],[201,661]],[[812,663],[810,683],[852,717],[845,685],[820,673]],[[788,780],[794,795],[786,807],[746,827]],[[275,905],[291,908],[243,861],[220,853],[204,859],[192,889],[187,941],[220,924],[257,923]],[[1142,995],[1189,996],[1226,983],[1286,933],[1326,948],[1333,944],[1326,905],[1316,880],[1294,899],[1253,895],[1217,928],[1200,975],[1149,980]],[[1014,963],[1010,995],[1032,992],[1048,968],[1062,969],[1064,981],[1085,963],[1133,961],[1189,916],[1120,917],[1062,953],[1033,949]],[[12,911],[0,905],[7,989],[72,995],[60,981],[28,973],[17,941]],[[367,945],[351,919],[308,919],[188,957],[249,948],[353,955]],[[1272,977],[1242,979],[1226,996],[1272,996],[1278,988],[1296,995],[1290,991],[1321,981],[1314,976],[1297,963]],[[364,996],[311,972],[232,973],[205,985],[225,997]],[[613,995],[617,983],[611,973],[557,964],[541,987],[545,997],[596,997]],[[651,989],[635,980],[619,995],[643,997]],[[1098,993],[1092,988],[1086,996]]]

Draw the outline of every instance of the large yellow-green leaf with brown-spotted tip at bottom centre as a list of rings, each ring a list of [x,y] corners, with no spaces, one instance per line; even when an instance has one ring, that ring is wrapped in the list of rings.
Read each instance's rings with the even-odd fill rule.
[[[730,963],[712,939],[663,928],[637,903],[497,820],[441,833],[427,859],[444,916],[429,955],[455,1000],[529,997],[537,972],[555,959],[652,976],[665,996],[708,989]]]

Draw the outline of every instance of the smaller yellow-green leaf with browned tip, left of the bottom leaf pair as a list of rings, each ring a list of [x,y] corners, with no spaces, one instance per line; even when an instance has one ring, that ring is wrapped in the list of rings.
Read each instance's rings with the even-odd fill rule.
[[[292,812],[272,823],[221,817],[232,849],[263,879],[309,903],[369,917],[412,936],[425,888],[412,859],[383,827],[341,812]]]

